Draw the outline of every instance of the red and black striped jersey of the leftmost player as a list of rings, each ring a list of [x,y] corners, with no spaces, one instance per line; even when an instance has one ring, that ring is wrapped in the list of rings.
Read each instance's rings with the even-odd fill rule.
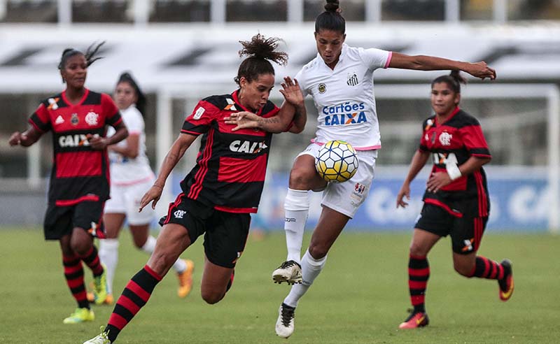
[[[109,199],[107,151],[92,150],[86,135],[105,136],[107,125],[121,121],[111,96],[89,89],[76,104],[66,99],[66,91],[41,101],[29,123],[41,133],[52,131],[50,203],[73,206]]]

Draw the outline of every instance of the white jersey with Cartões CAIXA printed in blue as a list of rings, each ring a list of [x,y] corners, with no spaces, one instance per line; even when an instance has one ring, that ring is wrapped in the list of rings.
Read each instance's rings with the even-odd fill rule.
[[[317,54],[295,78],[304,95],[313,97],[318,111],[316,136],[311,142],[344,140],[356,150],[381,148],[373,92],[373,72],[387,68],[392,52],[342,45],[335,69]]]

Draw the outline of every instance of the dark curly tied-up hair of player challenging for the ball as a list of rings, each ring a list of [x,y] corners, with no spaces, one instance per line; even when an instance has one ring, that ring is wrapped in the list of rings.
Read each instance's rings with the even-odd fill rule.
[[[281,66],[288,63],[288,54],[283,51],[276,51],[280,38],[265,38],[261,34],[256,34],[251,41],[239,41],[243,49],[239,50],[239,56],[248,56],[241,62],[237,70],[237,76],[234,78],[235,83],[239,85],[241,77],[246,78],[248,82],[258,79],[261,74],[272,74],[274,76],[274,67],[269,61]]]

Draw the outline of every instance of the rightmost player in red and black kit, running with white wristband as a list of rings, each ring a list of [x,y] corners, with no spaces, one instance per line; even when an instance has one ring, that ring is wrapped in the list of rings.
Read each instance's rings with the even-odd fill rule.
[[[465,79],[458,71],[433,80],[435,115],[423,122],[419,150],[397,196],[397,207],[407,206],[403,198],[410,199],[409,184],[431,157],[433,169],[409,250],[408,285],[414,310],[400,329],[424,327],[429,322],[424,306],[430,277],[427,255],[443,236],[451,236],[455,271],[468,278],[497,280],[502,301],[510,299],[513,292],[511,262],[504,259],[497,263],[477,255],[490,211],[482,165],[490,162],[491,155],[478,120],[458,108],[460,83]]]

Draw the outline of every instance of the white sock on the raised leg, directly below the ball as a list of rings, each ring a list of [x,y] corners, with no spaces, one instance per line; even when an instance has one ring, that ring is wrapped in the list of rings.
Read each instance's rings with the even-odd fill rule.
[[[284,231],[286,231],[286,248],[288,257],[286,260],[301,260],[303,231],[307,215],[309,215],[309,192],[307,190],[288,189],[284,201],[286,218],[284,220]]]

